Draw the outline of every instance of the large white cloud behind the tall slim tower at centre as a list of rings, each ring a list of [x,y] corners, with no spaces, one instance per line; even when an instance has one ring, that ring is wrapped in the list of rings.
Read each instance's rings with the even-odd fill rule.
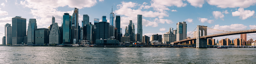
[[[142,25],[143,26],[152,26],[152,27],[157,27],[158,23],[173,23],[172,20],[169,19],[161,19],[164,17],[168,17],[169,15],[167,15],[166,12],[153,12],[153,11],[142,11],[142,8],[146,8],[147,3],[143,3],[141,4],[137,4],[134,2],[121,2],[122,4],[117,5],[118,10],[115,10],[114,13],[118,14],[118,15],[124,15],[124,17],[122,17],[121,19],[121,28],[125,28],[125,26],[128,26],[128,21],[132,20],[132,22],[134,22],[135,27],[137,26],[137,14],[141,14],[143,17],[150,17],[150,18],[155,18],[153,21],[149,21],[146,19],[142,19]],[[136,8],[137,6],[139,6],[139,8],[136,10],[134,8]],[[150,8],[150,6],[149,6]],[[124,26],[122,26],[124,25]]]

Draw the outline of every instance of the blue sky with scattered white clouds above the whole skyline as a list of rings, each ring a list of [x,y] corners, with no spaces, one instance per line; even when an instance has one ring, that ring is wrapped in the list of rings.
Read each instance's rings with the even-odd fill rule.
[[[137,33],[137,14],[143,16],[143,35],[165,34],[170,27],[176,29],[176,23],[187,22],[187,36],[193,37],[196,26],[208,26],[217,30],[237,31],[255,29],[256,0],[0,0],[0,36],[4,36],[4,25],[11,18],[21,16],[35,18],[37,28],[50,26],[52,16],[61,26],[64,13],[73,13],[78,8],[79,25],[82,15],[88,14],[90,22],[94,18],[107,16],[109,22],[111,6],[113,13],[121,16],[121,28],[124,34],[129,20],[135,25]],[[191,33],[192,32],[192,33]],[[223,33],[208,29],[208,35]],[[240,35],[215,37],[214,39],[235,39]],[[247,34],[247,40],[256,40],[256,33]],[[2,42],[2,38],[0,39]]]

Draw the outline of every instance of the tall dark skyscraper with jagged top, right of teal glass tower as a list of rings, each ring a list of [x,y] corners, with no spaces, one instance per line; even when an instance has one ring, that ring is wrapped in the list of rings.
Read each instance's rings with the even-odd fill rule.
[[[71,25],[71,42],[78,42],[80,39],[80,26],[78,26],[78,9],[75,8],[72,16],[72,25]],[[88,17],[89,18],[89,17]]]

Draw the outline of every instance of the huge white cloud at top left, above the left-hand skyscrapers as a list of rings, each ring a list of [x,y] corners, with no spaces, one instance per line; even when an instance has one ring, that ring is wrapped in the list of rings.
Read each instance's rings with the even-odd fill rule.
[[[86,3],[86,4],[84,4]],[[24,7],[31,8],[31,14],[36,18],[39,26],[49,26],[51,24],[52,16],[55,17],[56,22],[61,23],[61,17],[64,13],[72,15],[73,10],[70,11],[59,11],[57,7],[69,6],[70,8],[77,7],[82,9],[84,7],[92,7],[96,5],[96,0],[52,0],[52,1],[41,1],[41,0],[26,0],[20,1],[20,4]],[[79,15],[79,22],[81,24],[82,15]],[[40,28],[40,27],[39,27]]]

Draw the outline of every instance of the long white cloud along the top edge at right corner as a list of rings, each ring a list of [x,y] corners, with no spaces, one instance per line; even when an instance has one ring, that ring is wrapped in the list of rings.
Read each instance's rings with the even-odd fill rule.
[[[207,2],[220,8],[247,8],[255,5],[256,0],[207,0]]]

